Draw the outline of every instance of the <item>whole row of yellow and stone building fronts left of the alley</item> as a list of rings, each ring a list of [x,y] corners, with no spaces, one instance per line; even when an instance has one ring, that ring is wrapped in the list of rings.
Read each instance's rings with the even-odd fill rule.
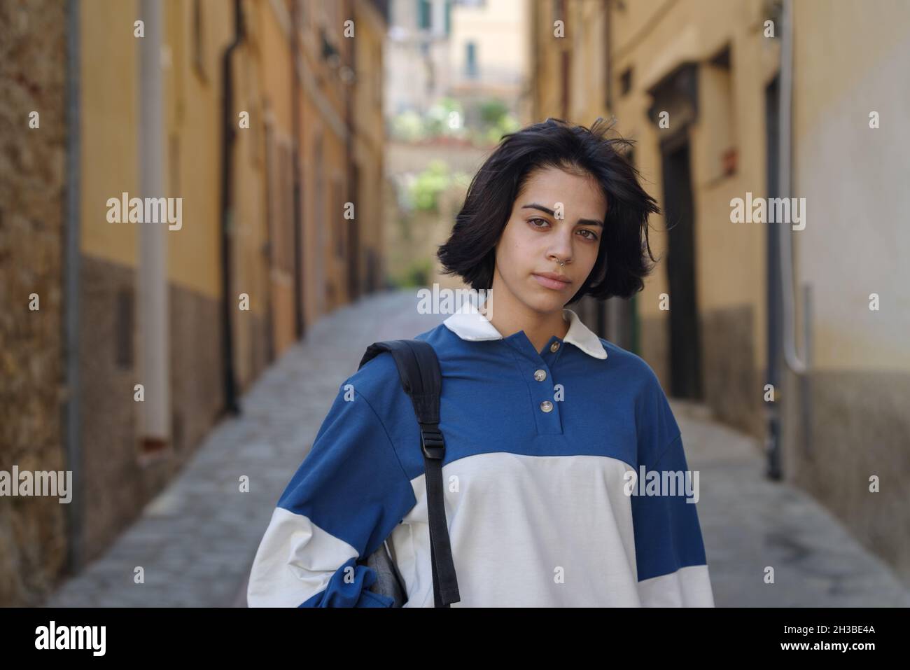
[[[36,604],[136,519],[310,324],[381,286],[387,7],[0,11],[4,44],[19,45],[0,107],[22,128],[3,144],[3,216],[43,231],[3,235],[19,381],[4,374],[15,400],[0,469],[69,470],[75,493],[0,500],[0,603]]]

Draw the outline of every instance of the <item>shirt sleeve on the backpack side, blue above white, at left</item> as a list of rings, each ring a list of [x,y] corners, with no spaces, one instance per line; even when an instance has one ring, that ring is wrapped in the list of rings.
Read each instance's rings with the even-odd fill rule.
[[[388,607],[359,565],[417,503],[385,426],[346,381],[281,494],[249,575],[250,607]]]

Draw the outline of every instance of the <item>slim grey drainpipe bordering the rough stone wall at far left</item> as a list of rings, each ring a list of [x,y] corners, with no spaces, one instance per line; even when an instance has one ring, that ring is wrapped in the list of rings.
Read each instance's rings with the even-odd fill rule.
[[[63,411],[66,469],[73,473],[73,500],[66,505],[66,570],[76,574],[82,569],[82,445],[79,442],[81,411],[79,395],[79,188],[81,137],[79,136],[80,106],[80,45],[79,0],[66,4],[66,221],[64,249],[64,369],[66,374],[66,405]]]

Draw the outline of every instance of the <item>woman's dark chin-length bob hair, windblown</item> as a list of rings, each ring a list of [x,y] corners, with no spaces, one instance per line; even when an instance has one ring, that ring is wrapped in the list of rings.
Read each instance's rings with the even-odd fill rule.
[[[471,179],[451,236],[437,251],[443,273],[460,276],[471,289],[491,289],[495,247],[515,198],[533,173],[558,167],[579,176],[590,174],[607,202],[597,260],[566,304],[585,295],[628,299],[642,290],[643,278],[653,269],[648,259],[655,261],[648,240],[648,216],[661,210],[639,184],[638,170],[616,149],[632,147],[632,140],[605,137],[614,124],[615,118],[608,124],[598,117],[589,130],[548,118],[503,136]]]

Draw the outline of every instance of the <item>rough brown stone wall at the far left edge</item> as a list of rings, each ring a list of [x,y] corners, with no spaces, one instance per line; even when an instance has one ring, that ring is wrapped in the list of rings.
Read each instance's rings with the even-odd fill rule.
[[[35,39],[35,36],[40,36]],[[63,471],[66,4],[0,3],[0,471]],[[29,127],[37,112],[38,127]],[[29,309],[36,294],[39,310]],[[0,605],[66,563],[67,505],[0,497]]]

